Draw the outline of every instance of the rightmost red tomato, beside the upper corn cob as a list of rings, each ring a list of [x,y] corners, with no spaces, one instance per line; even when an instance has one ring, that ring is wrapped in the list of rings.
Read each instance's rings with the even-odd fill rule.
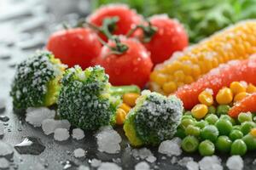
[[[151,41],[144,45],[150,52],[154,65],[162,63],[174,52],[188,46],[188,35],[177,20],[171,20],[166,15],[155,15],[149,21],[157,31]],[[136,31],[133,37],[143,38],[143,31]]]

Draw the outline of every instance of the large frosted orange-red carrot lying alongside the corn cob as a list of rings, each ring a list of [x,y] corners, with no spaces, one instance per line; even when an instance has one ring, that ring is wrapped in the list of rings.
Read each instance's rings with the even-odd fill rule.
[[[256,58],[232,60],[212,69],[196,82],[178,88],[176,95],[183,101],[185,109],[191,109],[199,103],[198,95],[206,88],[211,88],[215,97],[218,90],[229,87],[231,82],[245,81],[256,84]]]

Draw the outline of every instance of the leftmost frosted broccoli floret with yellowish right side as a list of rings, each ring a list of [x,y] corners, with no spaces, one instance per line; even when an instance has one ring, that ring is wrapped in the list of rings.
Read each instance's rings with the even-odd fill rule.
[[[38,52],[17,65],[10,91],[14,108],[55,104],[64,70],[60,59],[47,51]]]

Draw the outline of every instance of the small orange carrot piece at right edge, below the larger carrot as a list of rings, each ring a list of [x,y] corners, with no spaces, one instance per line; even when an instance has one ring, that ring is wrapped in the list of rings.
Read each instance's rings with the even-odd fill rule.
[[[256,111],[256,93],[248,95],[237,102],[229,111],[229,115],[237,117],[241,112]]]

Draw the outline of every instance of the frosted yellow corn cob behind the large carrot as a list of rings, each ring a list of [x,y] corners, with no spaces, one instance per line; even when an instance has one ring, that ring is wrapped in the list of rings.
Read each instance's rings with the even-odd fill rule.
[[[161,94],[172,94],[178,87],[195,82],[221,63],[246,59],[254,53],[256,20],[241,21],[156,65],[149,86]]]

